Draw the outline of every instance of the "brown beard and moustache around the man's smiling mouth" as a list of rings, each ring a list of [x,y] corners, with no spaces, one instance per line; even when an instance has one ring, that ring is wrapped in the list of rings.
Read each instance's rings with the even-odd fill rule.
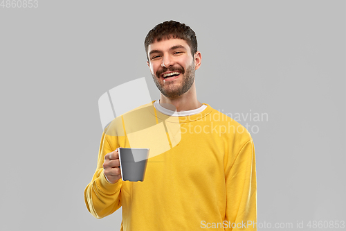
[[[181,75],[183,77],[183,83],[181,85],[178,85],[174,83],[174,81],[166,81],[165,83],[161,82],[159,78],[156,76],[160,76],[165,71],[180,71]],[[181,68],[165,68],[161,69],[160,71],[156,72],[156,76],[152,74],[152,78],[154,79],[154,83],[156,84],[156,87],[160,90],[160,92],[170,99],[175,99],[184,94],[185,92],[188,92],[188,90],[191,88],[192,84],[194,83],[194,61],[192,62],[192,65],[188,67],[188,69]]]

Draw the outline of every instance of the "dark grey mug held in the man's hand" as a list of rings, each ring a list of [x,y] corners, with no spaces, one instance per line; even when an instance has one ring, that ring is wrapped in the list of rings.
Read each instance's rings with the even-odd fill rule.
[[[149,148],[118,148],[118,151],[122,180],[143,181]]]

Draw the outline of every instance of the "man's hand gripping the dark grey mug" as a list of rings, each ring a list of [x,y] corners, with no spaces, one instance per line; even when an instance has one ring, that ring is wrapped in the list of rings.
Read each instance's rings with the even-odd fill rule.
[[[103,163],[104,176],[106,176],[108,182],[110,182],[111,184],[114,184],[121,178],[121,171],[119,166],[119,153],[118,148],[116,148],[116,151],[107,153],[104,156]]]

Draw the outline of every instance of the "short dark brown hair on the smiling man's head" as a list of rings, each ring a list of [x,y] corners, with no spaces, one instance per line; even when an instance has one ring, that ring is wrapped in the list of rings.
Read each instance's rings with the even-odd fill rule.
[[[192,56],[197,52],[197,37],[190,26],[171,20],[158,24],[149,31],[144,40],[145,53],[148,53],[150,44],[155,41],[169,40],[170,38],[179,38],[188,42]],[[148,55],[147,60],[149,61]]]

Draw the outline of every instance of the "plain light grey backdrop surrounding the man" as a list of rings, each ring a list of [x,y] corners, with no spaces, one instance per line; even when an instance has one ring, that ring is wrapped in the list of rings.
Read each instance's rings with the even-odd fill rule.
[[[158,99],[143,41],[169,19],[197,33],[199,101],[268,114],[239,120],[260,129],[258,222],[345,221],[345,11],[345,1],[1,7],[0,230],[119,230],[120,210],[98,220],[84,205],[102,133],[98,99],[143,76]]]

